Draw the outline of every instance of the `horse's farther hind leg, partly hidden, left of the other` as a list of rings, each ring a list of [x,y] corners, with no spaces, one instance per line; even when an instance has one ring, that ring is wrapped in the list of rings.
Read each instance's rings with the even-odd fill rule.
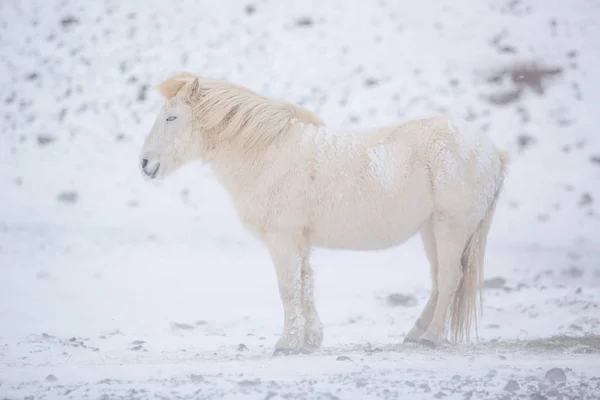
[[[423,247],[425,248],[425,254],[427,255],[429,269],[431,271],[431,293],[429,295],[429,300],[427,301],[425,308],[423,308],[421,315],[417,318],[415,325],[406,334],[404,338],[405,342],[416,342],[421,335],[425,333],[425,330],[427,330],[433,318],[433,312],[438,299],[438,259],[432,218],[430,218],[421,228],[421,239],[423,240]]]

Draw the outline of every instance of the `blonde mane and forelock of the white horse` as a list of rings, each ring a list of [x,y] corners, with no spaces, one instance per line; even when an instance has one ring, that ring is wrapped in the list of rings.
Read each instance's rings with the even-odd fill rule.
[[[240,148],[255,149],[284,134],[293,119],[324,125],[315,114],[294,104],[189,72],[174,74],[157,89],[167,99],[188,102],[195,119],[215,143],[235,143]]]

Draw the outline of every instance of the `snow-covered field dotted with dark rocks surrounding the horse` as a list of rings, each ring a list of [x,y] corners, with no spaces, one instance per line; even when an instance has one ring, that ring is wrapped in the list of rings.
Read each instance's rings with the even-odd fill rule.
[[[210,169],[142,179],[189,70],[330,127],[450,113],[512,156],[479,337],[402,344],[419,237],[319,250],[315,354],[273,357],[266,250]],[[0,399],[599,399],[596,0],[0,0]]]

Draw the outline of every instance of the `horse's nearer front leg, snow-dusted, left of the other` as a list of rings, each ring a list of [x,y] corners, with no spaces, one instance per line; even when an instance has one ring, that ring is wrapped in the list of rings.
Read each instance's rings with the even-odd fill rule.
[[[305,339],[306,319],[302,304],[302,254],[301,239],[281,232],[265,235],[283,304],[283,334],[275,344],[275,355],[298,354]]]

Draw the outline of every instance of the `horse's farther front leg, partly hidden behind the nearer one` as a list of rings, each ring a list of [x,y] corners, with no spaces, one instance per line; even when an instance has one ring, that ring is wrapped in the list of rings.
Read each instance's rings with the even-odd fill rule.
[[[323,343],[323,323],[315,307],[315,285],[308,254],[302,258],[302,307],[306,319],[304,349],[312,352]]]

